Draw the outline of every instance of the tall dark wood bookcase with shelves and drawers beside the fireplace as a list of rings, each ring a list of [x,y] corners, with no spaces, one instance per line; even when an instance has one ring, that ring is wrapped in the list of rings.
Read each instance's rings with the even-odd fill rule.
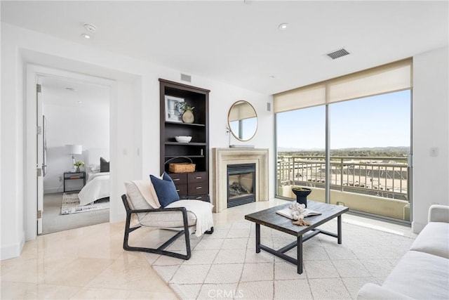
[[[209,197],[209,90],[159,79],[161,107],[161,173],[166,171],[175,182],[180,197],[208,201]],[[194,122],[173,118],[171,99],[194,107]],[[178,104],[179,104],[178,103]],[[189,143],[178,143],[175,136],[192,136]],[[195,164],[191,173],[170,173],[169,163]]]

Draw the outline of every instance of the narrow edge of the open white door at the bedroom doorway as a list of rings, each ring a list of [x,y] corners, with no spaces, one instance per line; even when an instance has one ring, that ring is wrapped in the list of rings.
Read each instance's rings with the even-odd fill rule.
[[[37,145],[37,159],[36,159],[36,174],[37,174],[37,234],[42,233],[42,214],[43,214],[43,176],[46,174],[46,146],[45,140],[45,126],[44,117],[42,112],[42,90],[40,79],[38,78],[38,84],[36,84],[36,145]]]

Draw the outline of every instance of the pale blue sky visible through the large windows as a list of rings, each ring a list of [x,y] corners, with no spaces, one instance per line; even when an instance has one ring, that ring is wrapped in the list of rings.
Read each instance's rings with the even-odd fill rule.
[[[410,146],[410,90],[329,105],[330,149]],[[324,149],[324,105],[276,114],[278,148]]]

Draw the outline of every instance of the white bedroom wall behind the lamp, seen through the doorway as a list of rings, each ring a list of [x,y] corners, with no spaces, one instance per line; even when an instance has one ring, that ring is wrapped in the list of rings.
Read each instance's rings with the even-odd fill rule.
[[[45,100],[45,87],[43,95]],[[109,150],[109,103],[99,103],[95,106],[88,106],[85,103],[75,106],[44,103],[43,115],[47,121],[48,170],[43,178],[43,191],[60,193],[63,190],[60,176],[74,168],[72,155],[67,153],[65,145],[82,145],[83,152],[100,148]],[[106,154],[109,157],[109,153]],[[86,157],[75,155],[75,160],[86,162]]]

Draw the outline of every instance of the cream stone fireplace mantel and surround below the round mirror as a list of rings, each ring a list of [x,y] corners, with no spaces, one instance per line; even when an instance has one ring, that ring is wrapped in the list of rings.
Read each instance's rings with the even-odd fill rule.
[[[255,201],[268,201],[268,149],[213,148],[214,212],[227,209],[227,165],[255,164]]]

